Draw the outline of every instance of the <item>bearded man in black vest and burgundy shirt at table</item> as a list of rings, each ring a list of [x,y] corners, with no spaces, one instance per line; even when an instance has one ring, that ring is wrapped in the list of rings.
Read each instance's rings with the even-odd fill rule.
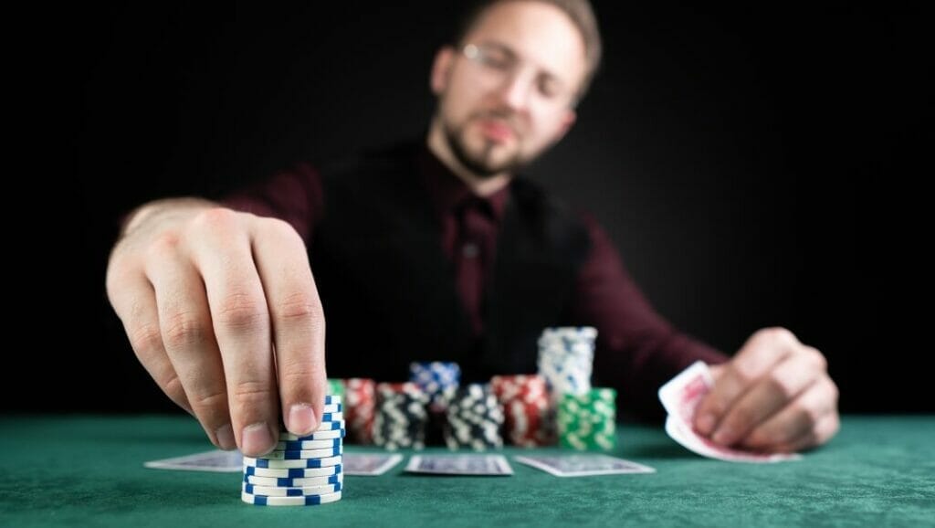
[[[107,281],[137,357],[215,445],[248,455],[275,446],[280,419],[316,426],[325,313],[329,371],[386,380],[418,359],[530,372],[542,328],[595,326],[596,381],[652,412],[661,382],[725,357],[654,314],[592,220],[516,178],[574,124],[599,55],[586,0],[486,2],[436,56],[420,145],[299,166],[223,206],[142,206]],[[755,332],[713,374],[696,427],[714,442],[793,451],[839,427],[824,357],[788,330]]]

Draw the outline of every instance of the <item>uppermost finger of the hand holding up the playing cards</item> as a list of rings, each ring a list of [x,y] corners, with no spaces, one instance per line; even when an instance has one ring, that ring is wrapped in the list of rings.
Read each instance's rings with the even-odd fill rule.
[[[797,345],[800,344],[792,332],[784,329],[759,330],[751,336],[737,356],[724,366],[712,391],[698,404],[695,415],[695,428],[698,433],[715,433],[741,395],[751,389],[756,380],[791,354]],[[731,425],[733,427],[733,422]],[[722,437],[729,438],[739,433],[741,432],[733,429],[725,430]]]

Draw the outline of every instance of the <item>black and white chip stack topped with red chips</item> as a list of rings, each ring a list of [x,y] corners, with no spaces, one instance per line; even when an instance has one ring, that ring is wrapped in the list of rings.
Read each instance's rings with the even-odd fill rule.
[[[424,448],[427,405],[428,396],[414,383],[378,383],[373,443],[389,450]]]

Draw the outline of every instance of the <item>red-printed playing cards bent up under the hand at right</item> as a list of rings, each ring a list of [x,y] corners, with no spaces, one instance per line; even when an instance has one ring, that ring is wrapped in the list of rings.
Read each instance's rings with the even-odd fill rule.
[[[666,407],[666,433],[699,455],[727,462],[784,462],[801,459],[798,454],[767,454],[724,447],[695,431],[695,411],[698,403],[711,390],[714,382],[708,365],[696,361],[681,374],[659,388],[659,401]]]

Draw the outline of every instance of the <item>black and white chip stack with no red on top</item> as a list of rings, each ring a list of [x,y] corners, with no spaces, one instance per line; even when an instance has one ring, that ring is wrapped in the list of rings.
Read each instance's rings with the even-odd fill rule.
[[[472,383],[455,392],[448,404],[445,444],[475,451],[503,447],[503,409],[489,384]]]

